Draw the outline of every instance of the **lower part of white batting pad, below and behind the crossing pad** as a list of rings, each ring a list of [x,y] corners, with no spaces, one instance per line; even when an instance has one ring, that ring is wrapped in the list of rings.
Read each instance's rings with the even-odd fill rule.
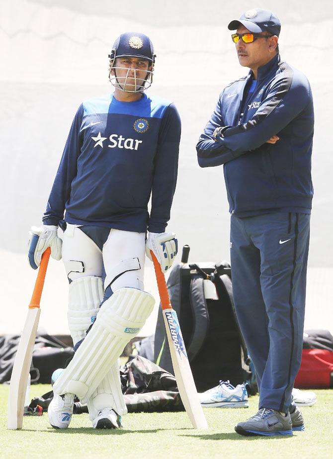
[[[121,390],[119,359],[112,365],[110,371],[98,384],[97,389],[87,401],[89,419],[93,421],[99,410],[112,408],[121,416],[127,414],[124,396]]]

